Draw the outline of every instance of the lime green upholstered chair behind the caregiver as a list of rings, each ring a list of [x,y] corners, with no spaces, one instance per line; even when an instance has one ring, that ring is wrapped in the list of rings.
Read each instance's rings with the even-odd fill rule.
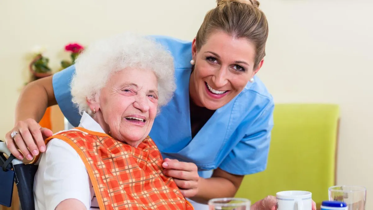
[[[339,107],[276,104],[267,169],[245,176],[236,197],[252,203],[276,192],[312,192],[317,206],[335,185]]]

